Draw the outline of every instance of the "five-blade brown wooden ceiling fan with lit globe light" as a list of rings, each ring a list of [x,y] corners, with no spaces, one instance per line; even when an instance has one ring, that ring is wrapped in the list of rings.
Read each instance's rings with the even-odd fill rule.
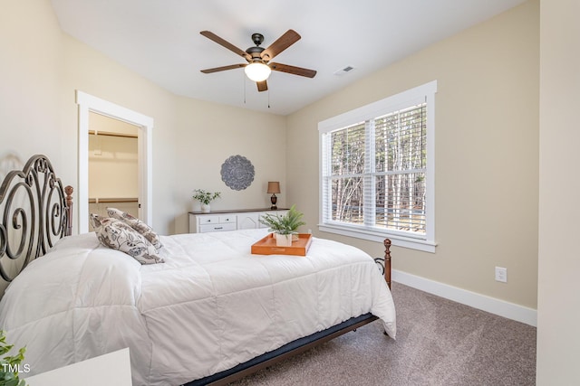
[[[205,74],[218,71],[234,70],[244,67],[247,77],[250,80],[256,81],[258,91],[266,91],[266,89],[268,89],[266,80],[268,79],[268,76],[270,76],[270,72],[272,70],[300,75],[307,78],[314,78],[314,75],[316,75],[316,71],[314,70],[290,66],[288,64],[271,62],[271,60],[274,59],[278,53],[283,52],[286,48],[300,40],[300,35],[294,30],[288,30],[268,48],[260,47],[260,44],[264,42],[264,36],[261,33],[253,33],[252,41],[254,44],[256,44],[256,46],[250,47],[246,51],[240,50],[234,44],[225,41],[215,33],[210,33],[209,31],[202,31],[200,33],[207,37],[209,40],[217,42],[219,45],[226,47],[229,51],[236,53],[247,61],[247,63],[231,64],[229,66],[201,70],[201,72]]]

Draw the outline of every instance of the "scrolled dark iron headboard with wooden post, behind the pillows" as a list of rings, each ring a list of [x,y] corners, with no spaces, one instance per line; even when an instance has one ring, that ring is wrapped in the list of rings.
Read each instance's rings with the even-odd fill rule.
[[[0,276],[5,281],[71,234],[72,193],[44,155],[6,175],[0,185]]]

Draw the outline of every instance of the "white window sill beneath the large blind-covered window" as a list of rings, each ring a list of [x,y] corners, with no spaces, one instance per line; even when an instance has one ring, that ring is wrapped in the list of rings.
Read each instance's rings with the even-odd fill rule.
[[[435,241],[413,239],[411,237],[382,231],[362,230],[329,224],[318,224],[318,230],[378,242],[382,242],[384,239],[389,239],[391,240],[392,245],[396,245],[397,247],[417,249],[430,253],[435,253],[435,247],[437,246]]]

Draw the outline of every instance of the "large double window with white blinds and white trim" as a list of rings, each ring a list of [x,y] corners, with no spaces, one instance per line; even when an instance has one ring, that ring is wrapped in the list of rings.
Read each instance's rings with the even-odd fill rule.
[[[435,251],[435,92],[432,81],[318,124],[321,231]]]

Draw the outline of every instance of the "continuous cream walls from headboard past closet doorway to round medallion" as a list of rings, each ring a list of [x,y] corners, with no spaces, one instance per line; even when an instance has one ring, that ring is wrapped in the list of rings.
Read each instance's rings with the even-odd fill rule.
[[[176,97],[62,33],[49,0],[0,0],[0,8],[0,159],[46,154],[64,184],[76,187],[78,89],[155,120],[153,226],[160,233],[188,231],[195,188],[224,193],[216,208],[265,206],[268,179],[284,189],[285,118]],[[219,165],[237,154],[256,168],[254,183],[239,192],[219,176]]]

